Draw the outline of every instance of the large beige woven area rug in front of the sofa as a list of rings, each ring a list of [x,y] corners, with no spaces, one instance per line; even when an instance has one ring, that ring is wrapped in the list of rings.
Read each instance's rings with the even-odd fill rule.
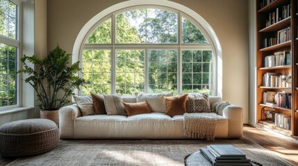
[[[184,165],[184,157],[210,144],[231,144],[263,165],[290,165],[247,138],[206,140],[60,140],[58,147],[8,165]],[[199,165],[199,164],[198,164]]]

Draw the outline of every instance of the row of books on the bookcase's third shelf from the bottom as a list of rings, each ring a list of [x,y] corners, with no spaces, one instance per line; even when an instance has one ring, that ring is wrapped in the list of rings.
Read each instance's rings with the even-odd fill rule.
[[[279,73],[265,73],[262,77],[262,86],[289,88],[291,84],[286,81],[288,77],[288,75],[279,75]]]

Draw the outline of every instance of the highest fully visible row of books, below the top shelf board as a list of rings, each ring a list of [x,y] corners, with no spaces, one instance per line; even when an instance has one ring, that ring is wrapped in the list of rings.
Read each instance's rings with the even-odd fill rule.
[[[265,21],[265,27],[276,24],[277,22],[291,16],[290,4],[276,8],[273,12],[269,13],[269,18]]]

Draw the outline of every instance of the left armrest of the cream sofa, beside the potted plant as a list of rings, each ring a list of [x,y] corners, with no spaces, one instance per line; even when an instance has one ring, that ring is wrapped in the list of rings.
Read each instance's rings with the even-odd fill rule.
[[[74,119],[82,116],[76,104],[59,109],[60,138],[74,138]]]

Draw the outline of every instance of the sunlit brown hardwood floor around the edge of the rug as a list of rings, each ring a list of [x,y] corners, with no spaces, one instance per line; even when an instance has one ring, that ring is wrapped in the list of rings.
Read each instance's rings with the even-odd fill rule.
[[[298,140],[288,140],[248,124],[245,124],[243,127],[243,136],[272,151],[276,156],[287,160],[292,165],[298,165]],[[3,158],[0,156],[0,165],[6,165],[13,160],[15,158]]]

